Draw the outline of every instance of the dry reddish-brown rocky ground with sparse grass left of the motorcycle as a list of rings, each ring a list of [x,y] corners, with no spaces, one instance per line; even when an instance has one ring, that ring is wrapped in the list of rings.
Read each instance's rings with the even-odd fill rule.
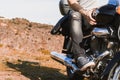
[[[23,18],[0,18],[0,80],[67,80],[65,67],[50,57],[63,44],[51,28]]]

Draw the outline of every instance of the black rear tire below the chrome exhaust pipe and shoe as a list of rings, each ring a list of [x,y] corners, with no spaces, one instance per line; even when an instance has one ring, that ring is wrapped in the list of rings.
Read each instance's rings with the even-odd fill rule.
[[[83,80],[83,77],[81,76],[79,72],[73,72],[72,68],[66,67],[67,69],[67,76],[69,80]]]

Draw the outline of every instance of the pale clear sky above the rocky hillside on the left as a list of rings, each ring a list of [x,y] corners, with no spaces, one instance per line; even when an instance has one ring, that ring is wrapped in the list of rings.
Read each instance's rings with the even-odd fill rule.
[[[59,0],[0,0],[0,16],[51,25],[62,17]]]

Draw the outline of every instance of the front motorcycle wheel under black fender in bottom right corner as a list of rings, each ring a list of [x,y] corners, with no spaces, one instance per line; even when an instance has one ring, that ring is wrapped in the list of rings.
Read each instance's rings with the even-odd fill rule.
[[[120,80],[120,62],[113,66],[107,80]]]

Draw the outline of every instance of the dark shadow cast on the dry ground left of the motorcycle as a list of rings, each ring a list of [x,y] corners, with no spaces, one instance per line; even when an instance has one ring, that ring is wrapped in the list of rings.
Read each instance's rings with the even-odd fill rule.
[[[7,62],[7,66],[20,71],[22,75],[30,80],[67,80],[67,77],[61,74],[59,69],[40,66],[37,62],[19,60],[17,64]]]

